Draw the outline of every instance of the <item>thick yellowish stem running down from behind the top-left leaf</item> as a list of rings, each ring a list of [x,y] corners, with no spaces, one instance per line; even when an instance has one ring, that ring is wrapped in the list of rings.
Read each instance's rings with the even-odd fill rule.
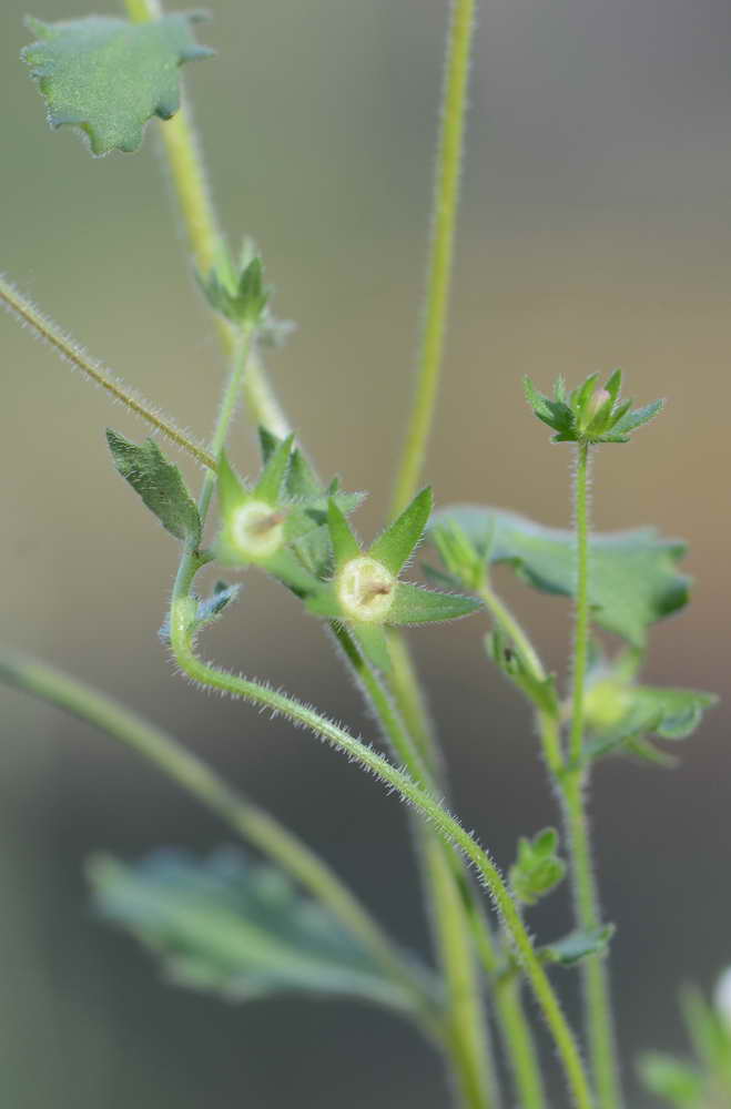
[[[139,23],[160,19],[163,14],[160,0],[125,0],[125,7],[130,19]],[[180,110],[171,120],[161,124],[160,133],[195,265],[200,273],[207,274],[211,268],[223,263],[226,244],[211,199],[193,114],[184,92],[181,94]],[[224,353],[231,359],[236,345],[236,329],[222,316],[216,315],[215,319]],[[248,359],[243,387],[255,423],[267,427],[280,438],[288,435],[290,424],[255,349]]]

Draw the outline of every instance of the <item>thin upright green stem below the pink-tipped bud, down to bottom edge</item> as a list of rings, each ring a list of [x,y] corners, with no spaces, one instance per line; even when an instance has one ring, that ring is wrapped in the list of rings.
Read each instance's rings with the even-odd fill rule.
[[[579,442],[575,476],[577,532],[577,579],[573,634],[573,690],[569,764],[560,780],[566,825],[569,834],[570,877],[577,924],[590,930],[601,923],[599,896],[591,858],[586,806],[587,772],[582,765],[583,699],[589,651],[589,444]],[[623,1105],[607,964],[592,955],[581,967],[589,1041],[589,1057],[599,1109],[621,1109]]]

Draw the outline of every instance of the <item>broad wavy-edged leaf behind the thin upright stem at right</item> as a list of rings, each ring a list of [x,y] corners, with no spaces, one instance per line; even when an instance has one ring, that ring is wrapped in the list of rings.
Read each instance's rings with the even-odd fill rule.
[[[544,592],[573,596],[572,532],[544,527],[516,512],[470,505],[440,509],[430,529],[448,522],[457,523],[476,543],[493,529],[490,563],[508,563]],[[689,579],[677,570],[684,553],[683,542],[661,539],[652,528],[595,533],[589,600],[596,622],[643,647],[648,627],[688,602]]]

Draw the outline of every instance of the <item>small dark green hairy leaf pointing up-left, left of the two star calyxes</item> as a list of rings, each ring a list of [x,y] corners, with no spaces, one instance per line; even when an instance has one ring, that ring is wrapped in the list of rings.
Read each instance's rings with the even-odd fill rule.
[[[106,430],[106,441],[114,465],[125,481],[142,497],[163,528],[197,547],[201,542],[201,517],[180,470],[167,461],[153,439],[138,445]]]

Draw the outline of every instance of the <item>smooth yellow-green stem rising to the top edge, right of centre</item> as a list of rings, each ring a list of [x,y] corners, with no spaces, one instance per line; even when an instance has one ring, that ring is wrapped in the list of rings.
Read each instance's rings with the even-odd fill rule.
[[[424,330],[414,405],[394,485],[393,516],[397,516],[406,508],[416,492],[439,390],[451,285],[455,225],[459,206],[467,83],[476,8],[477,0],[453,0],[451,4],[434,186]]]

